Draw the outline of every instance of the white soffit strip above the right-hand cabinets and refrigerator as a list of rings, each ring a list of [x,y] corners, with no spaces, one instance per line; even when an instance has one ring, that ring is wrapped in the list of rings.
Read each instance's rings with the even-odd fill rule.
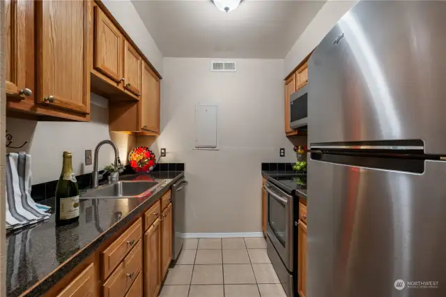
[[[307,29],[295,42],[284,59],[284,73],[286,77],[291,71],[314,50],[314,48],[327,35],[328,31],[339,21],[339,19],[355,5],[357,0],[328,1],[316,14]]]

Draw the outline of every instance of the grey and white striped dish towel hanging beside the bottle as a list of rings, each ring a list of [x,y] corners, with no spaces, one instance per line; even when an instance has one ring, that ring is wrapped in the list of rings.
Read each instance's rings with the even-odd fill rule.
[[[31,198],[31,155],[6,154],[6,229],[46,220],[48,209]]]

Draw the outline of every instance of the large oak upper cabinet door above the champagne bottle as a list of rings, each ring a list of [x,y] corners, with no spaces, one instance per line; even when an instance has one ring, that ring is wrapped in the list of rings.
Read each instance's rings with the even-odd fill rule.
[[[36,102],[90,112],[89,11],[91,1],[36,1]]]

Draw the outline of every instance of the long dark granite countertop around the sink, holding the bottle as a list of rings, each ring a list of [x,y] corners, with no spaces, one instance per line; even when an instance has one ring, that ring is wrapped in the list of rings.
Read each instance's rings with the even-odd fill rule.
[[[77,223],[56,227],[52,215],[46,222],[8,234],[7,296],[20,296],[31,287],[26,296],[43,295],[72,268],[89,257],[107,238],[141,215],[142,211],[182,176],[184,172],[123,176],[121,180],[149,178],[155,181],[166,180],[166,183],[143,198],[81,199]],[[40,203],[54,206],[54,198]],[[53,273],[56,268],[57,272]]]

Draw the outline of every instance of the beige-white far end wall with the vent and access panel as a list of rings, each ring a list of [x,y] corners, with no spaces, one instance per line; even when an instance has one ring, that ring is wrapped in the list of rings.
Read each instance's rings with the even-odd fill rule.
[[[187,233],[261,231],[261,162],[295,162],[283,60],[232,59],[236,73],[210,72],[212,60],[164,58],[162,131],[151,148],[167,148],[162,162],[185,162]],[[220,151],[192,149],[197,103],[218,105]]]

